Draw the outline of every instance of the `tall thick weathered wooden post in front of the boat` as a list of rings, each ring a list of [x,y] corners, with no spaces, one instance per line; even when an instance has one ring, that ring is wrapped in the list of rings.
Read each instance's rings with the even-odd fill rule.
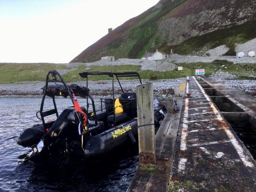
[[[140,165],[156,164],[153,83],[137,86]]]

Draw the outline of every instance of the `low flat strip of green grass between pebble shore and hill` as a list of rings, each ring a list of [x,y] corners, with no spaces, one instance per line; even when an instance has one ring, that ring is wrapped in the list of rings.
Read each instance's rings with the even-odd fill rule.
[[[140,70],[140,65],[122,65],[122,67],[116,66],[90,66],[87,69],[86,66],[80,66],[75,70],[70,70],[70,67],[66,67],[64,64],[0,64],[0,84],[9,84],[23,81],[45,81],[46,74],[49,70],[70,70],[70,72],[63,75],[65,81],[76,82],[84,81],[79,76],[79,73],[85,71],[102,71],[109,72],[129,72],[136,71],[140,74],[143,79],[150,79],[153,76],[157,76],[157,79],[175,79],[186,76],[195,75],[195,69],[205,69],[206,75],[210,75],[215,72],[228,72],[233,74],[255,75],[256,65],[254,64],[233,64],[229,61],[214,61],[212,63],[191,63],[191,64],[177,64],[183,66],[183,71],[167,71],[158,72],[151,70]],[[223,66],[224,65],[224,66]],[[107,76],[92,76],[90,80],[106,80],[109,79]],[[247,79],[247,77],[241,77],[241,79]]]

